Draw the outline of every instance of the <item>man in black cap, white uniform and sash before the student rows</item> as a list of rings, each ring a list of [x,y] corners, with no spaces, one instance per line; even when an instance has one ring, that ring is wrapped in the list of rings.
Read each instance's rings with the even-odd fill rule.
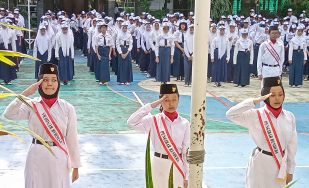
[[[270,39],[263,42],[259,48],[257,71],[259,79],[281,76],[284,62],[284,45],[277,41],[278,26],[270,26]]]

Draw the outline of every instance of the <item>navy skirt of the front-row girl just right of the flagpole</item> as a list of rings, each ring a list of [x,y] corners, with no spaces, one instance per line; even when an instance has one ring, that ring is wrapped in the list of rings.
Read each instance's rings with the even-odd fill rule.
[[[212,64],[212,82],[227,81],[226,52],[221,59],[218,59],[218,48],[215,49],[215,62]]]

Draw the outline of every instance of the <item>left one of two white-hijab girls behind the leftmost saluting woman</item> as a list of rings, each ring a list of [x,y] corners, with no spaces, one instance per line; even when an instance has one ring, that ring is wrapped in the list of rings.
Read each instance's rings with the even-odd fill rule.
[[[40,25],[39,32],[34,41],[33,57],[41,60],[35,61],[35,78],[37,79],[39,67],[42,64],[49,63],[51,59],[51,41],[44,25]]]

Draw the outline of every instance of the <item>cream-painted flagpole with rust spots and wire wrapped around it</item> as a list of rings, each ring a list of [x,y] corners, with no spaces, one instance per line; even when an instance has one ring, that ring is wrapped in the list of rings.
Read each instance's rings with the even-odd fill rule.
[[[204,132],[211,0],[195,0],[189,188],[203,186]],[[209,62],[210,63],[210,62]]]

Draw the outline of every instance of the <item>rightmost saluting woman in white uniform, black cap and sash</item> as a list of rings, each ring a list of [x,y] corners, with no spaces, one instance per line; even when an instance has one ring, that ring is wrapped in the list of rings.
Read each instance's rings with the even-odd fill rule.
[[[285,93],[280,77],[267,77],[263,82],[261,97],[237,104],[226,116],[248,128],[257,145],[249,159],[246,188],[282,188],[292,181],[296,166],[296,120],[282,109]],[[255,109],[261,101],[266,105]]]

